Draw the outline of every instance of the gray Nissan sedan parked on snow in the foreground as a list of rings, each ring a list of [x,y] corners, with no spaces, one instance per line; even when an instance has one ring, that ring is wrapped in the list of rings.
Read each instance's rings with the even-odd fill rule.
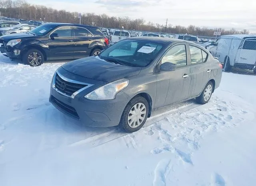
[[[218,59],[193,42],[128,38],[59,67],[50,102],[87,126],[134,132],[154,109],[193,98],[207,103],[221,77]]]

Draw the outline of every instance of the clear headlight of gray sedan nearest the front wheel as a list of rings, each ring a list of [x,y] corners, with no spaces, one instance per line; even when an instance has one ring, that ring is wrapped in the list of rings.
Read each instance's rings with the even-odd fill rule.
[[[84,97],[91,100],[115,99],[116,94],[125,87],[127,87],[128,83],[128,79],[119,79],[117,81],[108,83],[102,87],[99,87],[98,89],[88,93]]]

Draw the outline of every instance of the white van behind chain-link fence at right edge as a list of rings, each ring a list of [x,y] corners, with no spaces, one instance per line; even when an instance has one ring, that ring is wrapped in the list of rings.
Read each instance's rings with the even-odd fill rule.
[[[256,35],[240,34],[220,36],[207,49],[219,61],[226,63],[225,71],[231,67],[253,70],[256,73]]]

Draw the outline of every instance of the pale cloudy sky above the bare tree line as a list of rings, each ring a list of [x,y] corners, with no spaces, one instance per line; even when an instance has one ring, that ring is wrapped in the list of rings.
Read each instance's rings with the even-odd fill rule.
[[[256,2],[252,0],[28,0],[76,12],[144,18],[172,25],[248,29],[256,32]]]

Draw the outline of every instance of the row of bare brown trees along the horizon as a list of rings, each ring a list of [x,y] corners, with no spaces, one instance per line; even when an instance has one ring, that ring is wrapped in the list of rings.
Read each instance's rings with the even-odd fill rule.
[[[0,0],[0,16],[6,16],[17,19],[37,20],[46,22],[61,22],[79,24],[78,12],[68,12],[66,10],[56,10],[42,5],[29,4],[24,0]],[[99,26],[105,28],[124,27],[126,30],[140,30],[148,32],[162,32],[170,34],[193,34],[197,36],[213,37],[214,31],[221,32],[221,35],[227,34],[249,34],[244,29],[238,31],[234,28],[226,30],[223,28],[210,29],[207,27],[198,27],[190,25],[188,27],[172,25],[161,25],[153,22],[146,22],[143,18],[130,19],[128,16],[116,17],[107,14],[83,13],[81,24]]]

